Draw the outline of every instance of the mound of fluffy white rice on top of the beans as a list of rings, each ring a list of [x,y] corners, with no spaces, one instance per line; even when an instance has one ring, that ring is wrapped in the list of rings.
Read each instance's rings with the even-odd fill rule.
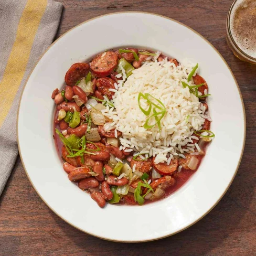
[[[168,159],[177,155],[185,158],[182,153],[187,151],[182,148],[188,143],[188,150],[195,152],[192,138],[197,138],[193,136],[194,130],[200,130],[209,116],[204,115],[204,106],[199,99],[187,87],[183,88],[181,83],[184,81],[190,86],[194,85],[193,79],[187,82],[188,73],[194,66],[187,60],[177,67],[167,59],[145,62],[127,80],[125,70],[121,68],[122,80],[118,81],[118,91],[112,90],[115,91],[115,110],[111,108],[103,114],[112,120],[116,130],[122,132],[120,143],[123,147],[136,153],[147,152],[148,156],[156,156],[155,163],[169,162]],[[161,120],[160,132],[157,125],[148,130],[143,127],[148,116],[138,106],[139,92],[150,93],[165,105],[167,112]],[[146,109],[146,102],[142,98],[140,102]],[[152,119],[149,124],[153,123],[155,121]],[[118,137],[116,130],[115,137]]]

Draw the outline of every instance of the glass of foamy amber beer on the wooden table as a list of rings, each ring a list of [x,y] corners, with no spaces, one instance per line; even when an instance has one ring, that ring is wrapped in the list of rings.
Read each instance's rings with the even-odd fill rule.
[[[256,0],[235,0],[227,17],[227,42],[240,60],[256,64]]]

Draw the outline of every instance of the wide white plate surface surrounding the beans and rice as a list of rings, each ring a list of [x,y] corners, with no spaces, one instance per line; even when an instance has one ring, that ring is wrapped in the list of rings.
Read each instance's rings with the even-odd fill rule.
[[[51,93],[74,63],[105,49],[140,46],[178,60],[199,62],[209,86],[215,140],[197,172],[176,193],[145,206],[98,207],[71,183],[52,139]],[[59,38],[38,61],[23,92],[18,142],[30,182],[45,203],[70,225],[93,236],[141,242],[170,236],[204,217],[225,194],[238,169],[245,139],[241,93],[227,63],[194,30],[148,13],[115,13],[91,19]]]

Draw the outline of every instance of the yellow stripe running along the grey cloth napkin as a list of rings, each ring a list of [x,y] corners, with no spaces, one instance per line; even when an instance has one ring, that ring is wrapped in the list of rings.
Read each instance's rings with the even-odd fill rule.
[[[16,39],[0,82],[0,127],[24,77],[34,38],[46,6],[47,0],[28,0],[19,20]]]

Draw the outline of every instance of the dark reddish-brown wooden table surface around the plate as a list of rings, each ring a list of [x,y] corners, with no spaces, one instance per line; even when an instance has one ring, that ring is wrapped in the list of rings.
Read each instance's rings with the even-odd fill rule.
[[[232,0],[59,2],[65,8],[56,38],[84,20],[127,10],[161,14],[198,31],[219,50],[239,83],[247,115],[246,146],[227,194],[206,217],[172,237],[136,244],[104,241],[69,226],[39,198],[18,158],[0,198],[0,255],[255,255],[256,66],[238,60],[227,46]]]

